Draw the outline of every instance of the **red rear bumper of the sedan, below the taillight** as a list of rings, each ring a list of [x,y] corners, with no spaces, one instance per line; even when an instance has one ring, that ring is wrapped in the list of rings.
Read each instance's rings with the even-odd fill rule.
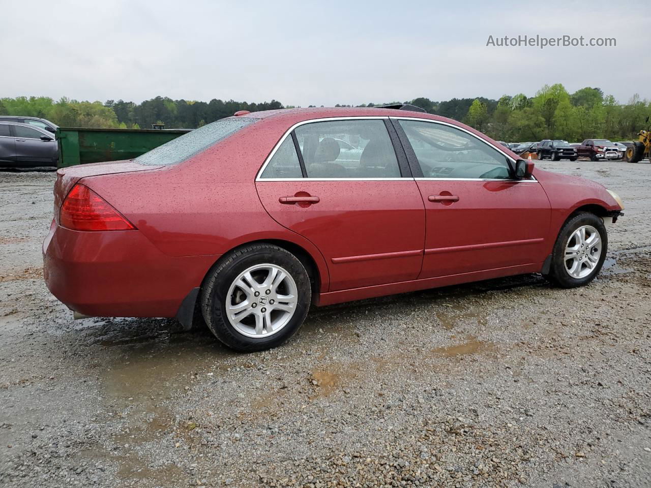
[[[218,258],[168,256],[138,230],[77,232],[53,223],[43,242],[49,291],[99,317],[174,317]]]

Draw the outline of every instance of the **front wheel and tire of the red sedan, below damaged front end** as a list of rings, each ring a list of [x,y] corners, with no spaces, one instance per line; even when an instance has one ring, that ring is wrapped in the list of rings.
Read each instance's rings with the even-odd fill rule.
[[[602,269],[607,251],[608,235],[602,219],[594,213],[577,213],[559,232],[547,279],[562,288],[588,284]]]

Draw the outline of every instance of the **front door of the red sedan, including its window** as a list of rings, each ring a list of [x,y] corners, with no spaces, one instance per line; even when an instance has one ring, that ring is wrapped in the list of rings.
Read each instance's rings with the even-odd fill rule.
[[[506,154],[445,122],[400,118],[425,205],[419,278],[542,264],[551,209],[536,180],[513,180]]]

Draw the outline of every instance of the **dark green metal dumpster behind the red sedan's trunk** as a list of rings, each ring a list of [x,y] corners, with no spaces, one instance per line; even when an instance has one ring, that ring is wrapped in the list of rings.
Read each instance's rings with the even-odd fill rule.
[[[190,129],[57,129],[59,168],[133,159]]]

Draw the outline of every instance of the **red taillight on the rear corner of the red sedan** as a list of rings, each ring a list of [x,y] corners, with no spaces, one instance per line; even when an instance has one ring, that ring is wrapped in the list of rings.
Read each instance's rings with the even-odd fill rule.
[[[132,223],[89,187],[77,183],[63,201],[59,224],[72,230],[131,230]]]

